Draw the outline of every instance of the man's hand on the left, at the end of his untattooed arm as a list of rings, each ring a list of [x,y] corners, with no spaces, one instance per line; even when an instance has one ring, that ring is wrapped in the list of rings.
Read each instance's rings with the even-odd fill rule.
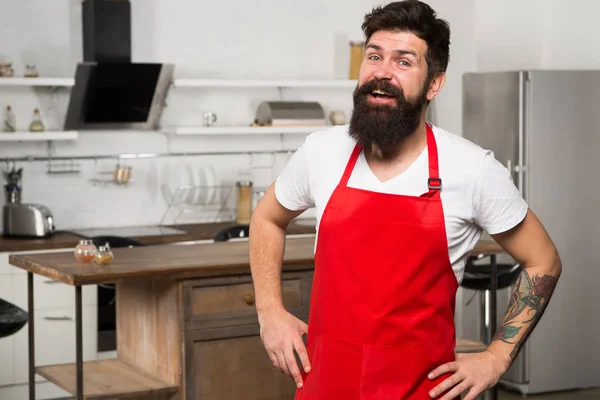
[[[302,387],[302,375],[294,350],[298,353],[305,372],[310,371],[308,352],[302,335],[308,332],[308,325],[283,308],[262,313],[259,317],[260,337],[273,365],[294,379],[298,388]]]

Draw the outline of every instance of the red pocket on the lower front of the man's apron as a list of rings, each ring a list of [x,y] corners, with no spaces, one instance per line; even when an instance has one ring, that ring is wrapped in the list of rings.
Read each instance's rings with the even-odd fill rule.
[[[407,399],[417,375],[411,347],[365,345],[360,400]]]

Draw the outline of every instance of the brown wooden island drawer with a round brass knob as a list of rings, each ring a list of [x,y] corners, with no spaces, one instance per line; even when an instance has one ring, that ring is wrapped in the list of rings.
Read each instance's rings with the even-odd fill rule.
[[[281,281],[286,310],[298,317],[307,316],[312,271],[284,273]],[[257,323],[250,275],[186,281],[183,292],[186,329]]]

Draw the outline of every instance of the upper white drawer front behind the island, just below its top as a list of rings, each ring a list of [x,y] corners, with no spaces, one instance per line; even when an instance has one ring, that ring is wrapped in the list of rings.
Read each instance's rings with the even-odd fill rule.
[[[14,303],[27,310],[27,275],[12,276]],[[53,281],[41,275],[33,275],[34,307],[36,310],[72,308],[75,310],[75,287]],[[81,288],[81,303],[84,306],[98,304],[98,287],[84,285]]]

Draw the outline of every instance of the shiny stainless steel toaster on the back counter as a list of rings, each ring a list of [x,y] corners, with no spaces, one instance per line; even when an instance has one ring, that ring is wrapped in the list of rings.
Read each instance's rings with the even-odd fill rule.
[[[2,210],[4,236],[44,237],[54,232],[50,210],[39,204],[5,204]]]

